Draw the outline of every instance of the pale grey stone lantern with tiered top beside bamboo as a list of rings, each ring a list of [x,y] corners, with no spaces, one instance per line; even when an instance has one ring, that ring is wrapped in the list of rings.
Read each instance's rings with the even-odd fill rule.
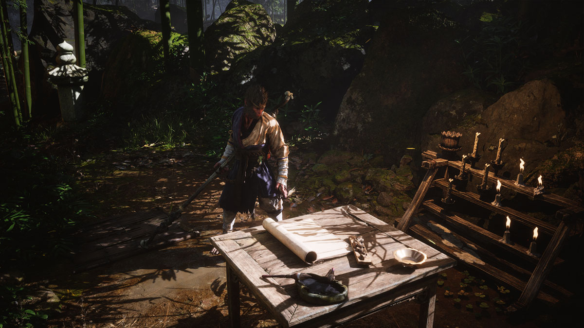
[[[48,80],[57,85],[61,118],[64,123],[78,122],[83,116],[82,90],[88,70],[75,65],[73,46],[63,41],[57,46],[57,67],[48,71]]]

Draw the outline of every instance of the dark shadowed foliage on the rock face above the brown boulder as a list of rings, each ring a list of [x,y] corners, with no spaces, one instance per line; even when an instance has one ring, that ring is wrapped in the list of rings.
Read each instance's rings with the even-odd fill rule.
[[[484,13],[482,29],[461,40],[463,74],[477,88],[502,94],[516,86],[536,55],[536,36],[525,23]]]

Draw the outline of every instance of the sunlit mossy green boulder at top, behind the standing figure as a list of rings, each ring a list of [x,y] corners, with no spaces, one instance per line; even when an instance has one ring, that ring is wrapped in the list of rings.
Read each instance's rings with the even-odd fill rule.
[[[234,0],[205,31],[205,54],[211,74],[227,71],[238,55],[272,44],[276,28],[262,5]]]

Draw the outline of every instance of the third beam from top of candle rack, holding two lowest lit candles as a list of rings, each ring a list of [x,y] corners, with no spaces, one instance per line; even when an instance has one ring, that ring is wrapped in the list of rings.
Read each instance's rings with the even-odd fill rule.
[[[465,219],[458,217],[458,215],[454,214],[447,214],[444,212],[444,209],[439,205],[435,204],[433,201],[425,201],[422,206],[432,212],[434,215],[446,220],[453,226],[456,226],[458,229],[464,230],[464,232],[471,235],[473,238],[477,240],[481,240],[481,242],[491,243],[495,246],[498,246],[500,249],[505,250],[506,252],[512,253],[516,256],[521,257],[524,260],[530,261],[531,263],[536,264],[539,260],[538,257],[530,255],[527,253],[526,247],[517,244],[507,244],[500,241],[501,236],[496,235],[486,229],[483,229],[477,225],[472,224],[471,222],[466,221]],[[554,264],[562,263],[564,260],[557,259],[555,260]],[[530,273],[531,274],[531,273]]]

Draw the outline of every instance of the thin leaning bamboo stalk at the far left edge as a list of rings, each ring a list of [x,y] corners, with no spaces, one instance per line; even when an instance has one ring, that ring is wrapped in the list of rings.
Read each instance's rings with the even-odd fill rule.
[[[0,0],[0,50],[2,54],[2,67],[4,67],[4,76],[6,79],[6,88],[12,104],[12,113],[16,127],[20,127],[22,113],[20,112],[20,101],[18,99],[18,88],[16,88],[16,78],[14,67],[12,65],[12,50],[8,43],[11,34],[8,33],[8,15],[6,15],[6,0]]]

